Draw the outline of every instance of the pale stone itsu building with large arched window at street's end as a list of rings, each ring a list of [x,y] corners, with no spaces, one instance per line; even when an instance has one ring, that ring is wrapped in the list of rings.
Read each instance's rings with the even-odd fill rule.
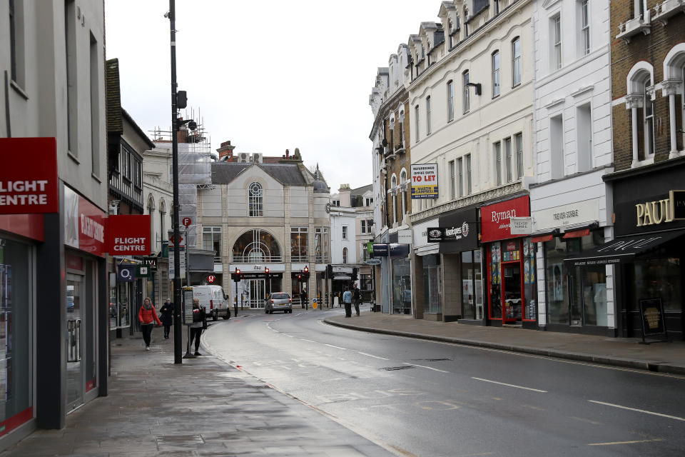
[[[323,298],[330,290],[328,186],[305,168],[298,149],[274,158],[229,146],[218,149],[210,184],[197,192],[198,247],[215,252],[215,283],[249,308],[263,308],[271,291],[288,292],[298,304],[304,291],[310,300]],[[236,269],[243,273],[237,284]]]

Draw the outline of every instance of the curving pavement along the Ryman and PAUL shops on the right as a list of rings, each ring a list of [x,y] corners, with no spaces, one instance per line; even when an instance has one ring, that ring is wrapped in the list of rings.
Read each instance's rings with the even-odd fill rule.
[[[641,344],[641,338],[609,338],[520,327],[426,321],[402,314],[372,313],[368,305],[362,305],[359,317],[355,316],[352,308],[351,318],[333,316],[324,321],[359,331],[685,375],[685,341]]]

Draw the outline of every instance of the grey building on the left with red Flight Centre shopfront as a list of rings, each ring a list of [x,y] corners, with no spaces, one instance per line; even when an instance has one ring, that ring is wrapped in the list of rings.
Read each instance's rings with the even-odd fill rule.
[[[46,171],[36,199],[56,202],[44,214],[5,202],[0,216],[0,448],[63,428],[107,393],[103,12],[102,1],[0,6],[0,150],[4,172],[17,165],[3,181]]]

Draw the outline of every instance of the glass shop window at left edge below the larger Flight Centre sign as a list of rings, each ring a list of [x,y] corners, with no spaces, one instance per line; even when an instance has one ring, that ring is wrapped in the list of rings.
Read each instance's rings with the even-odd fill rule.
[[[31,248],[0,245],[0,436],[33,417]]]

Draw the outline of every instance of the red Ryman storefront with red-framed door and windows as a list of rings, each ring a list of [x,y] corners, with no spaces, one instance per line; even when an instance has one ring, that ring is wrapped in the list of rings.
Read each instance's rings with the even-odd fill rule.
[[[527,216],[528,195],[482,206],[480,210],[490,325],[537,328],[534,245],[529,236],[512,235],[509,228],[512,217]]]

